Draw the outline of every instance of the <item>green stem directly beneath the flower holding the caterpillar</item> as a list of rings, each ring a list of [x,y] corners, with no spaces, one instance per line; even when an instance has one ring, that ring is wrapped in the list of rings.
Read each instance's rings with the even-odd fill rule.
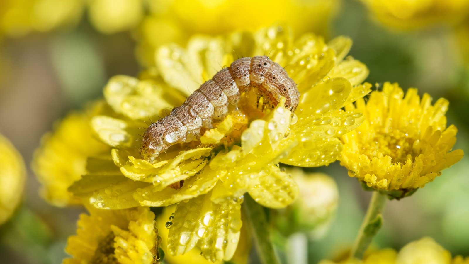
[[[249,194],[244,195],[244,203],[242,205],[247,218],[250,220],[251,234],[254,236],[261,263],[280,264],[270,241],[269,225],[265,217],[264,208],[255,202]]]

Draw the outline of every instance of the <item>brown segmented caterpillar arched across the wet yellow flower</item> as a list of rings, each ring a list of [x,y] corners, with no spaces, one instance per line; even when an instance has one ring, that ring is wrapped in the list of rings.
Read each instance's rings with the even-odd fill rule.
[[[206,81],[171,114],[151,124],[144,132],[140,155],[152,162],[174,144],[190,142],[211,129],[232,109],[237,109],[241,92],[257,87],[273,107],[281,96],[285,108],[295,111],[300,92],[285,70],[267,56],[241,58]]]

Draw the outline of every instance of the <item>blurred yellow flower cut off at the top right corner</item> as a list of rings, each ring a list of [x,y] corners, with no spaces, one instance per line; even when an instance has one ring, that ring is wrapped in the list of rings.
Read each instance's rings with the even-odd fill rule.
[[[409,29],[433,23],[457,23],[469,12],[469,0],[362,0],[376,18]]]

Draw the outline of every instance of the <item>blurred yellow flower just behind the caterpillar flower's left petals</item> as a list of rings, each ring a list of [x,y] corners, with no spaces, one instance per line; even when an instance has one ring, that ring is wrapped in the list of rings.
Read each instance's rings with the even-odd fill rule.
[[[46,134],[34,155],[32,168],[43,185],[41,195],[55,206],[79,204],[67,188],[86,173],[87,160],[108,153],[109,147],[96,139],[91,117],[101,108],[86,113],[70,113]],[[88,164],[89,166],[90,164]]]

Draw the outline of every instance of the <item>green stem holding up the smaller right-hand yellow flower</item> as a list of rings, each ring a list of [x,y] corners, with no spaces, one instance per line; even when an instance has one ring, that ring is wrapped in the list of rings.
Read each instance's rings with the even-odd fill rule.
[[[362,226],[360,227],[360,231],[358,231],[358,235],[350,253],[351,257],[358,258],[360,260],[363,258],[363,253],[365,253],[365,250],[368,248],[371,240],[376,233],[378,233],[378,230],[383,223],[381,212],[384,209],[386,200],[386,195],[379,194],[377,191],[373,192],[370,205],[368,206]]]

